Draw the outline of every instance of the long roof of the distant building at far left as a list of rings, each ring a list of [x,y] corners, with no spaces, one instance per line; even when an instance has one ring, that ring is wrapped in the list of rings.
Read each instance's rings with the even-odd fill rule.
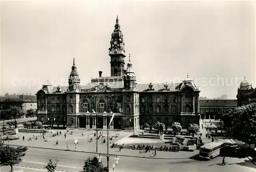
[[[37,102],[36,95],[9,95],[0,97],[0,101]]]

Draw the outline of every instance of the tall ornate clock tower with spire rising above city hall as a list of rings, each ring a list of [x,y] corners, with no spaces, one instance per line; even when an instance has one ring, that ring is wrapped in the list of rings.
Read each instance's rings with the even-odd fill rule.
[[[118,16],[116,17],[115,30],[111,35],[109,55],[111,57],[111,76],[123,77],[125,50]]]

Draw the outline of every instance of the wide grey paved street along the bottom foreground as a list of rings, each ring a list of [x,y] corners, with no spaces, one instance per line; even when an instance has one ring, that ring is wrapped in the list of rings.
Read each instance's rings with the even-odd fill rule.
[[[50,158],[58,159],[58,169],[67,171],[81,171],[84,165],[84,160],[97,156],[96,154],[68,152],[65,150],[51,150],[29,148],[23,162],[20,166],[30,166],[42,168]],[[110,171],[114,163],[114,158],[110,158]],[[144,159],[133,157],[119,156],[118,165],[115,171],[256,171],[255,168],[237,165],[238,160],[226,158],[228,165],[222,166],[222,157],[217,157],[211,161],[195,161],[192,159],[183,160],[159,160],[159,159]],[[102,163],[106,165],[106,157],[102,156]],[[22,168],[15,167],[15,170]],[[9,167],[3,167],[1,171],[8,171]],[[23,169],[30,171],[30,169]],[[37,170],[36,170],[37,171]],[[44,170],[41,170],[44,171]],[[38,170],[39,172],[39,170]]]

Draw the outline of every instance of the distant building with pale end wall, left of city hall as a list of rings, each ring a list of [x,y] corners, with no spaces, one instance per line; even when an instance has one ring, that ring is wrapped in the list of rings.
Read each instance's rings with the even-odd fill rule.
[[[0,111],[18,106],[24,112],[28,109],[37,109],[36,95],[8,95],[0,97]]]

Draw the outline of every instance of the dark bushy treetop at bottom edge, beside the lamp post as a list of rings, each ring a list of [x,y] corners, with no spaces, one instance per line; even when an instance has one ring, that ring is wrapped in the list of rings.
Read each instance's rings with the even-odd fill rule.
[[[99,162],[97,157],[88,158],[84,161],[83,170],[80,172],[105,172],[108,171],[108,167],[104,167],[102,162]]]

